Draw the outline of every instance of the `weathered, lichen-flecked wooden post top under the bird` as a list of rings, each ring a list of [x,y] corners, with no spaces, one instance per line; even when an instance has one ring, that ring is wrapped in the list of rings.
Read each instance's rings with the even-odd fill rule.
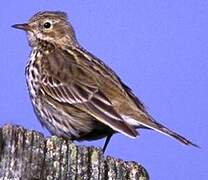
[[[105,158],[102,150],[76,146],[20,126],[0,129],[0,180],[148,180],[135,162]]]

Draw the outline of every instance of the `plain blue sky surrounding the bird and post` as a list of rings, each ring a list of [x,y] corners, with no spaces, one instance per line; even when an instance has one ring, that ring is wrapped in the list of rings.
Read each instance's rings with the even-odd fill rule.
[[[1,1],[0,125],[19,124],[47,136],[26,88],[25,33],[10,27],[39,10],[66,11],[80,43],[118,73],[155,119],[202,147],[141,130],[136,140],[115,135],[106,155],[141,163],[153,180],[208,179],[208,2]]]

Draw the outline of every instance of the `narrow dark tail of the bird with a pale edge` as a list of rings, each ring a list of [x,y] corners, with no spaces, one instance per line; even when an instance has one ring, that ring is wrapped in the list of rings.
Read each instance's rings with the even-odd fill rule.
[[[141,122],[141,121],[140,121]],[[194,144],[193,142],[191,142],[190,140],[186,139],[185,137],[179,135],[178,133],[168,129],[167,127],[163,126],[162,124],[156,122],[152,117],[148,117],[148,120],[146,119],[145,120],[145,123],[142,123],[141,124],[145,127],[148,127],[150,129],[153,129],[155,131],[158,131],[162,134],[165,134],[169,137],[172,137],[178,141],[180,141],[182,144],[185,144],[185,145],[192,145],[194,147],[198,147],[198,145]]]

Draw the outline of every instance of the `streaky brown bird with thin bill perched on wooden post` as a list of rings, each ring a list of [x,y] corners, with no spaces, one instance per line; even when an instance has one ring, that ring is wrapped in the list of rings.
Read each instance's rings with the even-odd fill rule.
[[[40,11],[24,30],[31,53],[25,68],[33,109],[52,135],[72,141],[106,138],[105,152],[115,133],[130,138],[151,129],[182,144],[198,147],[157,122],[121,78],[80,45],[62,11]]]

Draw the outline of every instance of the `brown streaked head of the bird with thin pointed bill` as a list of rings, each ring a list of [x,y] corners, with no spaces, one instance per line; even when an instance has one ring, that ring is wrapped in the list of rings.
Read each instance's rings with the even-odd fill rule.
[[[67,20],[67,15],[60,11],[38,12],[24,24],[15,24],[12,27],[27,32],[29,44],[34,47],[39,40],[55,45],[77,45],[75,32]]]

